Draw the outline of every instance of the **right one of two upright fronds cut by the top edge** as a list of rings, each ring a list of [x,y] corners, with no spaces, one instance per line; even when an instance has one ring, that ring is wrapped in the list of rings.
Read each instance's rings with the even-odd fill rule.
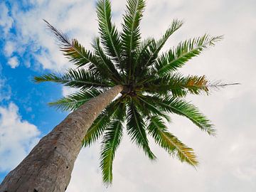
[[[124,57],[126,58],[126,71],[129,74],[128,79],[132,75],[132,63],[135,59],[134,50],[139,46],[140,32],[139,23],[142,19],[144,11],[144,0],[128,0],[127,10],[124,14],[124,23],[122,23],[123,31],[121,34],[122,46],[124,48]]]

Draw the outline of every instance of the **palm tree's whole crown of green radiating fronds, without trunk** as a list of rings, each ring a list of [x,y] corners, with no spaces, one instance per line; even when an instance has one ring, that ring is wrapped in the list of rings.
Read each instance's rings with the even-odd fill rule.
[[[128,0],[124,14],[122,32],[111,21],[109,0],[97,2],[97,18],[100,37],[95,38],[93,52],[86,50],[78,40],[48,24],[58,38],[60,50],[78,66],[65,74],[47,74],[36,77],[36,82],[58,82],[80,90],[63,97],[51,106],[61,110],[76,110],[92,97],[100,95],[114,85],[124,89],[97,117],[83,140],[90,146],[102,136],[100,167],[103,181],[112,182],[112,162],[126,127],[132,142],[142,148],[149,159],[156,159],[149,148],[147,134],[172,156],[192,166],[198,165],[193,149],[171,134],[164,121],[169,122],[168,113],[187,117],[201,130],[215,134],[213,124],[184,97],[188,94],[208,94],[210,88],[225,84],[209,82],[205,76],[183,76],[176,71],[188,60],[199,55],[205,48],[214,46],[222,37],[207,34],[178,43],[166,53],[160,53],[168,38],[182,26],[174,20],[159,40],[141,39],[139,23],[144,11],[144,0]]]

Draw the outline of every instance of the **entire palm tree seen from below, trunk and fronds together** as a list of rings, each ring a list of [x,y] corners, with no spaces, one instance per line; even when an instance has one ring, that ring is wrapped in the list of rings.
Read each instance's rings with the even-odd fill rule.
[[[205,48],[214,46],[222,36],[206,34],[191,38],[161,53],[161,48],[183,22],[175,19],[160,39],[142,41],[139,23],[144,6],[144,0],[127,1],[119,33],[111,21],[110,0],[99,0],[100,37],[95,38],[93,52],[46,21],[58,39],[60,50],[78,68],[63,75],[42,75],[35,81],[58,82],[79,90],[50,103],[60,110],[73,112],[6,176],[0,186],[1,192],[65,191],[81,147],[90,146],[100,137],[103,181],[112,183],[112,162],[124,127],[131,141],[149,159],[154,160],[156,156],[149,148],[147,134],[171,156],[192,166],[198,165],[193,149],[171,134],[164,122],[170,121],[169,113],[179,114],[202,131],[215,134],[213,124],[185,97],[208,94],[211,88],[227,84],[210,82],[205,76],[184,76],[177,70]]]

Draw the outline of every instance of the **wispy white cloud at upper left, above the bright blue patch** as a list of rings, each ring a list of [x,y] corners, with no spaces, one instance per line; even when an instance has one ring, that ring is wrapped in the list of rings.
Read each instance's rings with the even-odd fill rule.
[[[97,24],[93,22],[96,15],[95,12],[84,10],[93,10],[95,5],[93,1],[62,1],[61,4],[59,1],[26,1],[26,4],[33,5],[33,9],[29,11],[22,11],[16,1],[10,1],[10,4],[12,6],[9,12],[11,12],[11,18],[16,21],[14,27],[17,33],[6,36],[6,41],[15,39],[18,48],[15,51],[19,55],[31,53],[44,69],[58,71],[70,68],[72,65],[60,53],[53,35],[46,29],[43,18],[68,33],[70,38],[78,38],[82,44],[88,48],[91,47],[90,43],[97,31]],[[7,7],[5,5],[4,7],[8,13]],[[85,21],[84,18],[87,20]],[[11,50],[8,53],[10,54]],[[23,59],[25,63],[29,62],[29,58],[23,57]]]

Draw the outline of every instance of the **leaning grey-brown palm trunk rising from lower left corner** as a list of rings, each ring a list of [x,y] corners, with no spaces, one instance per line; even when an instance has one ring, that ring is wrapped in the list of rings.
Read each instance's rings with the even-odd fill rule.
[[[0,192],[65,191],[87,130],[122,90],[116,85],[68,114],[4,178]]]

